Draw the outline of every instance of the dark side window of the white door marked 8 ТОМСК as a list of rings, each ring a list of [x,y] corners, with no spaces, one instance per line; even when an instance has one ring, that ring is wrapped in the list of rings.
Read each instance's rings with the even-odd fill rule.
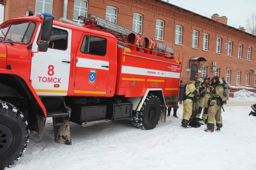
[[[52,28],[52,34],[48,40],[48,48],[66,50],[68,48],[68,32]]]

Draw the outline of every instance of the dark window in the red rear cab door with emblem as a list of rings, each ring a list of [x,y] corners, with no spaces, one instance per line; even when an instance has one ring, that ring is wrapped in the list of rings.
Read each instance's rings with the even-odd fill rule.
[[[107,40],[101,37],[85,35],[80,51],[82,53],[105,56]]]

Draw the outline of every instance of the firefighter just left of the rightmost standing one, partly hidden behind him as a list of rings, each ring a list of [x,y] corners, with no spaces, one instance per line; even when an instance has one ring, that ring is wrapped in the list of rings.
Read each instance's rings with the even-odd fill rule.
[[[198,108],[198,112],[196,115],[196,118],[199,121],[203,121],[207,118],[208,115],[208,101],[210,98],[210,84],[209,84],[209,79],[208,78],[204,78],[204,84],[203,84],[203,92],[200,94],[200,100],[199,100],[199,108]],[[204,108],[204,110],[203,110]],[[202,115],[202,119],[200,118],[201,112],[203,110],[203,115]]]

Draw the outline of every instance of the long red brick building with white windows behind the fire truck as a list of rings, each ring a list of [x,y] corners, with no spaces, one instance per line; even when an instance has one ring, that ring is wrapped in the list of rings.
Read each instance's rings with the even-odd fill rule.
[[[0,0],[4,20],[49,12],[63,15],[63,0]],[[256,87],[256,37],[244,28],[228,26],[228,18],[212,19],[160,0],[68,0],[67,19],[79,22],[89,13],[106,18],[184,54],[181,79],[224,77],[231,85]],[[199,58],[198,58],[199,57]],[[206,60],[206,62],[204,62]],[[203,64],[203,65],[202,65]]]

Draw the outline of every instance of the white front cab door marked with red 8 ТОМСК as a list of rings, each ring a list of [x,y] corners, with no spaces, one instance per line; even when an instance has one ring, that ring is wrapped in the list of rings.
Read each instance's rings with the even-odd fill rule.
[[[40,26],[39,26],[40,28]],[[37,30],[39,35],[40,29]],[[72,30],[60,26],[52,27],[47,52],[34,53],[31,61],[30,80],[39,96],[66,96],[70,72]],[[37,51],[37,39],[32,51]]]

